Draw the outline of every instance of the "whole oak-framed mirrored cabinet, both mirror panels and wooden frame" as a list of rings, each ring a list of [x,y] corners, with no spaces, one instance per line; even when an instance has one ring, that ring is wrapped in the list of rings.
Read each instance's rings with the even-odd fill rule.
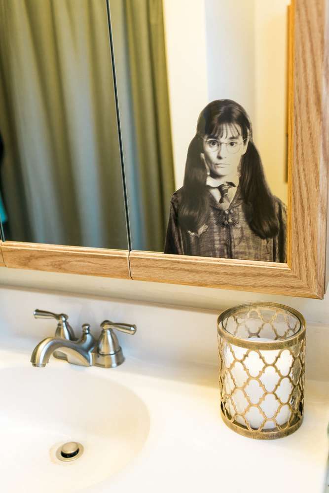
[[[322,298],[326,1],[288,3],[0,0],[3,264]]]

